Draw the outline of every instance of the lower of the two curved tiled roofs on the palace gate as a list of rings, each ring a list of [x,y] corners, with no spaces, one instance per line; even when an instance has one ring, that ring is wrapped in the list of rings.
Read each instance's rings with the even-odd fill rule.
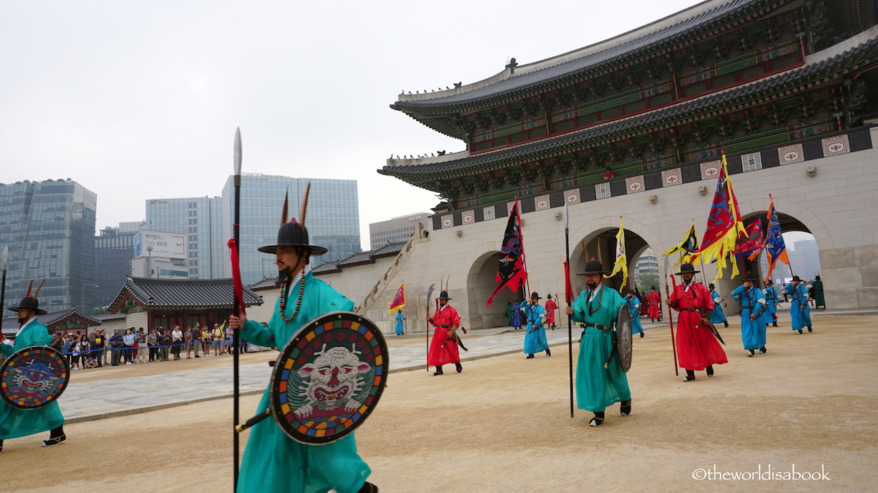
[[[853,46],[843,53],[827,56],[823,60],[794,68],[778,75],[766,77],[758,81],[750,82],[743,86],[726,89],[721,92],[702,96],[680,104],[674,104],[663,109],[643,113],[631,118],[625,118],[604,125],[596,125],[577,132],[565,133],[558,137],[537,140],[521,146],[507,147],[498,151],[487,152],[466,156],[457,161],[443,161],[422,165],[385,166],[378,169],[382,175],[413,176],[447,176],[455,171],[466,173],[470,170],[484,168],[488,165],[504,161],[525,161],[535,157],[544,156],[558,149],[565,149],[579,144],[594,143],[595,140],[609,138],[620,132],[630,132],[637,128],[649,127],[662,121],[680,118],[684,115],[698,112],[705,114],[711,107],[728,106],[739,99],[751,99],[759,96],[762,92],[781,90],[788,85],[797,85],[806,77],[814,77],[824,70],[838,68],[841,63],[860,54],[874,54],[878,49],[878,38],[867,39],[859,46]],[[834,53],[834,52],[833,52]],[[819,83],[819,82],[818,82]]]

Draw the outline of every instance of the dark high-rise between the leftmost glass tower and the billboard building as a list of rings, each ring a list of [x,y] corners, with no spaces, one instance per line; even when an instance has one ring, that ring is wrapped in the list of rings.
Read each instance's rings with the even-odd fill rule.
[[[95,305],[106,306],[119,294],[131,275],[134,258],[134,235],[143,222],[119,223],[119,227],[106,227],[95,237]],[[90,315],[90,313],[86,313]]]

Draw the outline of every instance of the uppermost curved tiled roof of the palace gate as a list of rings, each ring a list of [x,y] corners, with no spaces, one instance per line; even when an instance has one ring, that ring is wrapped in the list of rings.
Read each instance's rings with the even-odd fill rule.
[[[703,6],[711,3],[718,5],[708,10],[703,9]],[[788,3],[784,2],[784,0],[779,0],[774,4],[782,5]],[[766,0],[729,0],[724,3],[704,2],[685,11],[677,12],[668,18],[623,34],[615,39],[608,39],[597,45],[582,48],[577,52],[516,68],[518,72],[513,75],[495,77],[500,79],[497,82],[475,83],[469,86],[472,89],[467,89],[464,86],[463,88],[436,93],[437,96],[430,98],[402,96],[391,107],[394,110],[403,111],[459,108],[469,104],[528,93],[546,86],[554,86],[558,82],[586,75],[590,71],[616,67],[627,58],[641,56],[646,54],[644,52],[651,53],[663,46],[673,45],[676,40],[692,39],[696,32],[704,31],[709,27],[712,29],[711,25],[736,17],[742,11],[747,10],[748,7],[758,7],[760,4],[771,4],[771,2],[766,2]],[[694,12],[694,15],[691,12]],[[687,14],[691,17],[686,17]],[[667,25],[669,19],[673,18],[682,19],[679,22]],[[619,38],[628,40],[618,42],[617,39]],[[614,45],[614,43],[617,44]],[[577,56],[578,53],[581,53],[581,56]]]

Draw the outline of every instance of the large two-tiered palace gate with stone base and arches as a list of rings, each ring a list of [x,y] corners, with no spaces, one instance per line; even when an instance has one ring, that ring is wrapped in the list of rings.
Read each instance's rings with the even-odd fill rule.
[[[620,217],[631,272],[646,248],[678,244],[693,219],[702,235],[723,151],[745,224],[765,218],[772,194],[783,230],[817,240],[827,306],[878,307],[875,5],[709,0],[567,54],[513,60],[483,81],[399,95],[392,109],[466,149],[378,170],[446,202],[360,310],[387,318],[402,280],[409,305],[423,307],[445,276],[464,325],[505,325],[506,302],[520,298],[486,300],[516,196],[529,290],[564,290],[565,204],[572,272],[590,257],[611,268]],[[740,283],[728,276],[724,294]]]

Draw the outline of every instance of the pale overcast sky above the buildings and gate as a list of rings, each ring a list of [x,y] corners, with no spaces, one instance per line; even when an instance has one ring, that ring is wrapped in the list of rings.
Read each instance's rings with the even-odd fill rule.
[[[401,90],[477,82],[696,4],[4,2],[0,182],[71,178],[97,229],[147,198],[218,196],[241,127],[245,173],[359,183],[369,223],[438,203],[378,175],[391,154],[464,143],[388,106]]]

